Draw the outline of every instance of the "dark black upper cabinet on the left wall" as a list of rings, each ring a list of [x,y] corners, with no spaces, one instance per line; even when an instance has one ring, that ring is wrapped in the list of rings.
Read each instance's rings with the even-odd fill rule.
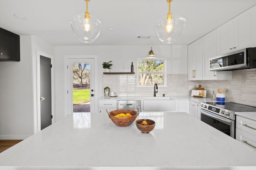
[[[20,61],[20,36],[0,28],[0,61]]]

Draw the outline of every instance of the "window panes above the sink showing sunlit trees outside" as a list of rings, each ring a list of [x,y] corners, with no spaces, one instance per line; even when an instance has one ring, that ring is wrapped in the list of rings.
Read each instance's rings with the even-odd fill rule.
[[[138,85],[166,85],[166,59],[138,59]]]

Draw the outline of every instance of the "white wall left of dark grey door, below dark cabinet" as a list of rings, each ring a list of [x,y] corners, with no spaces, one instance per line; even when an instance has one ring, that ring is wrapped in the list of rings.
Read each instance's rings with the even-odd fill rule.
[[[0,62],[0,139],[25,139],[35,133],[36,51],[54,54],[52,45],[20,36],[20,62]]]

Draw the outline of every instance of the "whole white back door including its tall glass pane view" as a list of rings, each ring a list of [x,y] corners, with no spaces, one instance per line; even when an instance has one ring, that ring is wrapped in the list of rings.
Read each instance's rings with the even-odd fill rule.
[[[85,56],[67,58],[67,115],[94,112],[94,59]]]

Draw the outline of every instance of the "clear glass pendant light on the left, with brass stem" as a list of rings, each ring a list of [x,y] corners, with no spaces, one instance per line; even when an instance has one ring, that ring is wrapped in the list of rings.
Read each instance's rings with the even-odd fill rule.
[[[93,43],[94,40],[100,35],[100,21],[91,16],[88,12],[88,2],[86,1],[86,12],[85,14],[79,14],[72,18],[70,21],[72,30],[76,37],[83,43]]]

